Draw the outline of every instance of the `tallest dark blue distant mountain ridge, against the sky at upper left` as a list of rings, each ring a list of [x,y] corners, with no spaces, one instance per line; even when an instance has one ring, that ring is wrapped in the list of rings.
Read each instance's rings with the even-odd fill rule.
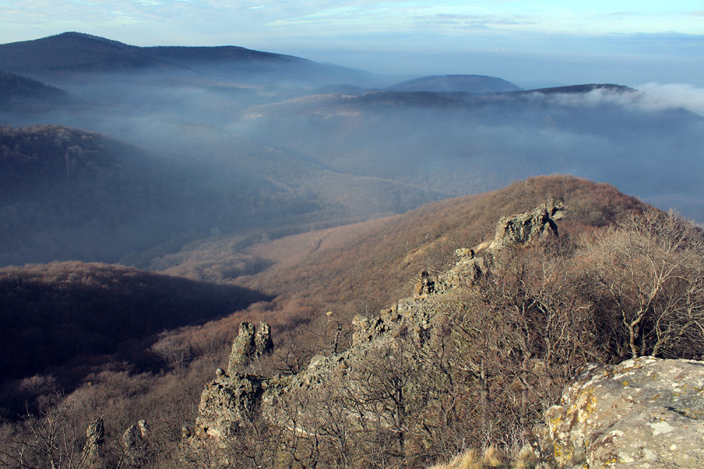
[[[170,75],[170,80],[181,75],[182,80],[191,82],[202,80],[203,75],[260,83],[370,78],[358,70],[238,46],[139,47],[81,32],[0,44],[0,69],[48,80],[134,72],[163,73]]]

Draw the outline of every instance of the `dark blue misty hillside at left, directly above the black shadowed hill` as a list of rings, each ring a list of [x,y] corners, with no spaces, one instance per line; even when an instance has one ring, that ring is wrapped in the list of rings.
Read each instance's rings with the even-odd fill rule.
[[[0,161],[3,265],[139,263],[144,251],[179,249],[213,229],[285,226],[319,208],[263,176],[168,160],[58,125],[0,127]]]

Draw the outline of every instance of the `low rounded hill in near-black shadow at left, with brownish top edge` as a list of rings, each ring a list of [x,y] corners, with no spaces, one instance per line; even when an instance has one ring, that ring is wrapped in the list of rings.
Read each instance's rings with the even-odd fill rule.
[[[106,264],[0,270],[0,381],[198,325],[270,296]]]

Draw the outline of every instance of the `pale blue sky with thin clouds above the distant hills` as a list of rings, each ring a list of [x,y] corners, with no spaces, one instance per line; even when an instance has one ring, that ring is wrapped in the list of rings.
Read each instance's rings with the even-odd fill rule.
[[[408,77],[704,87],[703,0],[0,0],[0,43],[65,31]]]

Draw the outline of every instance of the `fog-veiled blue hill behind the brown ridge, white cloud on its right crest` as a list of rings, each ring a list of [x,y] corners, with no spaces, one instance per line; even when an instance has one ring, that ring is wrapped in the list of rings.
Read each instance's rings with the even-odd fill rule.
[[[572,173],[704,216],[692,172],[704,118],[650,106],[628,87],[321,94],[251,106],[238,124],[257,142],[334,170],[453,195]]]

